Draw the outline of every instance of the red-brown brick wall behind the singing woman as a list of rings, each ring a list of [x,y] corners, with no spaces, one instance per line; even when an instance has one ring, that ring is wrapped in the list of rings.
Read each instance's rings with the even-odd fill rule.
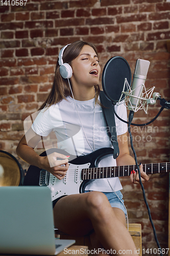
[[[1,150],[17,157],[23,120],[37,111],[50,91],[60,49],[78,39],[96,44],[102,68],[110,57],[118,55],[127,59],[133,74],[136,59],[150,60],[147,89],[155,86],[155,92],[170,98],[169,1],[28,0],[25,6],[10,4],[8,1],[0,7]],[[157,102],[149,106],[147,115],[137,112],[134,122],[151,120],[159,109]],[[169,113],[164,110],[147,127],[133,127],[139,162],[169,161]],[[28,167],[19,161],[23,168]],[[143,248],[157,248],[140,186],[121,180],[129,221],[142,224]],[[153,176],[144,187],[158,239],[162,248],[167,248],[168,174]]]

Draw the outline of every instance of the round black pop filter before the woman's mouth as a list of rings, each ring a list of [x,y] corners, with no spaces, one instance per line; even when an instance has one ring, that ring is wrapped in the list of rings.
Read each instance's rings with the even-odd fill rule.
[[[125,78],[131,85],[132,74],[131,69],[123,57],[115,56],[110,58],[104,67],[102,73],[102,87],[106,97],[112,101],[115,105],[122,94]],[[125,91],[128,88],[125,86]],[[121,101],[125,98],[125,94],[123,95]]]

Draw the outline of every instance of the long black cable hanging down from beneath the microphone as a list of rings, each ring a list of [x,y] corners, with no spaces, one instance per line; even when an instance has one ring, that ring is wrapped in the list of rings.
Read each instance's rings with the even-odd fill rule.
[[[128,132],[129,132],[129,136],[130,136],[131,148],[132,148],[132,151],[133,151],[133,154],[134,154],[134,157],[135,157],[135,163],[136,163],[136,167],[137,167],[138,174],[139,174],[139,183],[140,183],[140,186],[141,186],[141,189],[142,189],[143,199],[144,199],[145,205],[147,206],[147,209],[148,209],[148,215],[149,215],[149,219],[150,219],[150,222],[151,222],[151,225],[152,225],[152,228],[153,228],[155,241],[157,243],[158,248],[160,249],[161,256],[163,256],[162,255],[162,249],[161,249],[159,241],[157,239],[156,229],[155,229],[154,223],[152,221],[150,207],[148,205],[147,198],[145,196],[144,187],[143,187],[143,184],[142,184],[142,181],[141,181],[140,169],[139,169],[139,165],[137,163],[136,152],[135,152],[135,149],[133,147],[133,138],[132,138],[132,133],[131,133],[131,129],[130,129],[130,125],[131,125],[131,122],[132,122],[132,119],[133,119],[133,115],[134,115],[134,111],[131,110],[130,113],[129,113],[129,118],[128,118],[128,120],[129,120],[129,122],[128,122]]]

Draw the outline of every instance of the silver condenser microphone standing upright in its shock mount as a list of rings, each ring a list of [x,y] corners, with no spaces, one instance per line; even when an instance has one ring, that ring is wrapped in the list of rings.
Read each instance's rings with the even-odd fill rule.
[[[137,59],[136,61],[136,67],[135,67],[135,72],[133,75],[133,82],[131,87],[132,93],[128,103],[129,110],[134,111],[134,109],[138,109],[139,107],[144,83],[145,83],[145,80],[147,79],[149,66],[150,66],[149,60]]]

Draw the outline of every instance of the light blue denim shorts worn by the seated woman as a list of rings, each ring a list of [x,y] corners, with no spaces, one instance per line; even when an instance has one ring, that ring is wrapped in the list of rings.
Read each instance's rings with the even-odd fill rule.
[[[86,190],[84,192],[87,193],[87,192],[90,192],[90,191],[91,190]],[[123,204],[124,203],[123,195],[120,192],[120,190],[118,190],[116,192],[102,192],[102,193],[107,196],[111,207],[116,207],[116,208],[119,208],[119,209],[123,210],[123,212],[125,214],[125,217],[127,218],[127,210],[126,210],[126,208],[125,208],[125,206]]]

